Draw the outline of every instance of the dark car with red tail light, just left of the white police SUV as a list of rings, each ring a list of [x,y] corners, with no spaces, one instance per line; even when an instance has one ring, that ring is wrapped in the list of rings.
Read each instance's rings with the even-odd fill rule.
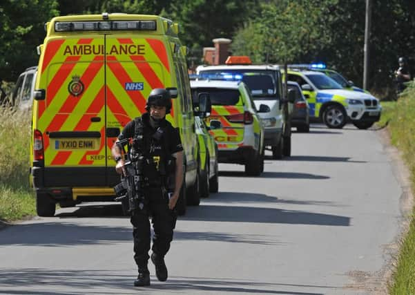
[[[309,132],[309,104],[302,94],[300,85],[297,82],[288,81],[288,89],[293,89],[296,93],[293,113],[291,115],[291,127],[296,127],[298,132]]]

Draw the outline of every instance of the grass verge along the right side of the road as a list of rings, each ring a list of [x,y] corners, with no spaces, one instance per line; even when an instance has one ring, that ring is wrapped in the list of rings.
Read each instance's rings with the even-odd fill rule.
[[[383,103],[382,122],[387,128],[392,144],[403,152],[403,160],[411,173],[412,191],[415,189],[415,91],[412,89],[397,102]],[[409,229],[400,242],[400,251],[389,294],[415,294],[415,211],[412,209]]]

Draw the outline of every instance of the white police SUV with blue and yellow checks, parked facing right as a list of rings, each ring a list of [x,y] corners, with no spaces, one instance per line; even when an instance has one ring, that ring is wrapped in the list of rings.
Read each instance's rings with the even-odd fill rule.
[[[288,80],[301,86],[310,117],[322,119],[329,128],[341,129],[350,120],[358,129],[368,129],[380,119],[379,99],[369,93],[345,90],[324,73],[291,68]]]

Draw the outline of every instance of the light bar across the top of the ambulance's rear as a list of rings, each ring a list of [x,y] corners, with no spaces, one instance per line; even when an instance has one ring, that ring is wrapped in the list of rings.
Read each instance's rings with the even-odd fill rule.
[[[55,32],[157,30],[156,21],[57,21]]]

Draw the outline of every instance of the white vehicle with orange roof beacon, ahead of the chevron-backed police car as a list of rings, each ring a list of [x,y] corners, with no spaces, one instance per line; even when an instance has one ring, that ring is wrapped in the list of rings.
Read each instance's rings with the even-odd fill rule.
[[[264,144],[270,146],[274,159],[291,155],[291,122],[293,101],[284,99],[278,66],[253,65],[247,56],[230,56],[225,65],[198,66],[199,79],[243,81],[251,90],[257,109],[261,104],[269,111],[259,113],[264,124]]]

